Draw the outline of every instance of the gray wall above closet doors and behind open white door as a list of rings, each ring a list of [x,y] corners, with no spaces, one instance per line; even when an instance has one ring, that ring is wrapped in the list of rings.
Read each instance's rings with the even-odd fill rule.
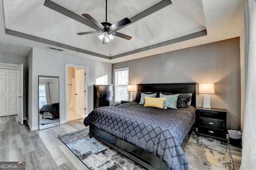
[[[0,53],[0,63],[9,63],[9,64],[21,64],[23,63],[23,96],[26,96],[26,70],[27,70],[27,57],[21,57],[18,55],[10,55]],[[26,111],[26,98],[23,100],[23,117],[27,117]]]

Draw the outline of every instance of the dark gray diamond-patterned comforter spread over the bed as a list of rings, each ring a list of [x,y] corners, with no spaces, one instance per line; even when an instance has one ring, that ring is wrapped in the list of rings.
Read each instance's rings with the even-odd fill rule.
[[[84,125],[94,125],[162,158],[170,170],[187,170],[180,147],[196,119],[193,106],[179,109],[144,107],[136,102],[94,109]]]

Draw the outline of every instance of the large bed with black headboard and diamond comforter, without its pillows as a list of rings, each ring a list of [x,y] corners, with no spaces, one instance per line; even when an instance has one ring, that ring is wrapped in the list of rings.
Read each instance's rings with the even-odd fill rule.
[[[137,102],[94,109],[85,119],[90,137],[150,170],[188,169],[181,148],[196,119],[196,83],[137,84],[139,92],[189,94],[187,108],[160,109]]]

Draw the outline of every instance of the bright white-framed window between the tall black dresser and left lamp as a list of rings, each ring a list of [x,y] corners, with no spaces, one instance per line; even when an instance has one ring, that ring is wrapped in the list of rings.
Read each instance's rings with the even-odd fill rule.
[[[129,68],[115,69],[115,102],[128,100]]]

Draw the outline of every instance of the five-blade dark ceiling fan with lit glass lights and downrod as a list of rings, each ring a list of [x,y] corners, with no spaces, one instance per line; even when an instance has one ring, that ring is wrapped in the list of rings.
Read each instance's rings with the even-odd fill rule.
[[[98,36],[98,38],[102,41],[102,44],[107,44],[115,39],[115,36],[130,40],[132,37],[128,35],[124,35],[122,33],[118,33],[115,31],[115,29],[121,29],[124,25],[127,25],[131,23],[131,21],[128,18],[124,18],[114,24],[107,22],[107,2],[106,0],[106,22],[99,23],[97,20],[92,18],[89,14],[82,14],[84,18],[94,23],[96,26],[98,26],[99,29],[97,31],[88,31],[88,32],[82,32],[77,33],[78,35],[85,35],[85,34],[91,34],[91,33],[102,33]]]

